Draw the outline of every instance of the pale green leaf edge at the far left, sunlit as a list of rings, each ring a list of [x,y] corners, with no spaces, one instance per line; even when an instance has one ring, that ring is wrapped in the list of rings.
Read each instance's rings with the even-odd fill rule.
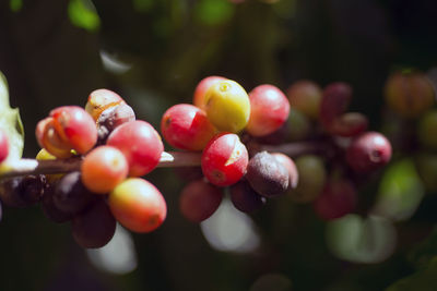
[[[9,104],[8,83],[0,72],[0,129],[7,134],[9,143],[9,156],[0,166],[0,171],[8,169],[8,165],[17,160],[23,155],[24,129],[20,112],[11,108]]]

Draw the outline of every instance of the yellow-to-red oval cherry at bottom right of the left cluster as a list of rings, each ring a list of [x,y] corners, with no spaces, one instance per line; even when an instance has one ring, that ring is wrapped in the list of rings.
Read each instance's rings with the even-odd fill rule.
[[[118,184],[108,197],[114,217],[134,232],[151,232],[167,216],[167,205],[161,192],[149,181],[128,178]]]

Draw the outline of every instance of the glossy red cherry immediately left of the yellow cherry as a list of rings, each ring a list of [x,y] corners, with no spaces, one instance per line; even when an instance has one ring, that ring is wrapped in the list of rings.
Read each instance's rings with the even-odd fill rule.
[[[179,104],[163,114],[161,132],[170,146],[202,150],[216,130],[203,110],[193,105]]]

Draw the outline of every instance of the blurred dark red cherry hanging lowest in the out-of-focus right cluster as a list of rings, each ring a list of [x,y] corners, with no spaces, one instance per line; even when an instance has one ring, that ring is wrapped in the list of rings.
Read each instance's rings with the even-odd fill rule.
[[[322,193],[314,202],[314,207],[322,219],[332,220],[352,213],[356,201],[356,190],[351,182],[332,181],[324,185]]]

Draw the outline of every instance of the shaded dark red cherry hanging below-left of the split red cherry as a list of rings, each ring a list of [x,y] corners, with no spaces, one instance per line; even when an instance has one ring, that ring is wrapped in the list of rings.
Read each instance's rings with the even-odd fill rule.
[[[179,197],[180,213],[192,222],[201,222],[212,216],[222,203],[220,187],[196,180],[186,185]]]

